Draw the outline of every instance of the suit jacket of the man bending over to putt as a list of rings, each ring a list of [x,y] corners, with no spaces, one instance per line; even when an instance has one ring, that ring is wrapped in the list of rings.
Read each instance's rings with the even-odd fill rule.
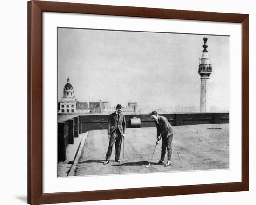
[[[166,117],[159,116],[158,123],[155,122],[155,124],[156,124],[156,129],[157,129],[156,137],[160,136],[160,134],[161,134],[162,137],[168,138],[170,135],[173,134],[173,128],[172,128],[170,122],[168,122],[168,120],[166,119]]]

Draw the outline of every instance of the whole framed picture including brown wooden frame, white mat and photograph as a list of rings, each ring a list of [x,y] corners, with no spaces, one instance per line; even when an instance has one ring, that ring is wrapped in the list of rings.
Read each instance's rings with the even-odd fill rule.
[[[249,15],[28,2],[28,203],[249,190]]]

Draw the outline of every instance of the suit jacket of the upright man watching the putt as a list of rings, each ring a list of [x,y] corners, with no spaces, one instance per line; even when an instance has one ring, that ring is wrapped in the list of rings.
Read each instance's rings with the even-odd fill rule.
[[[108,117],[108,134],[111,134],[114,130],[119,129],[121,135],[125,134],[126,121],[123,114],[119,114],[119,120],[116,112],[111,113]]]

